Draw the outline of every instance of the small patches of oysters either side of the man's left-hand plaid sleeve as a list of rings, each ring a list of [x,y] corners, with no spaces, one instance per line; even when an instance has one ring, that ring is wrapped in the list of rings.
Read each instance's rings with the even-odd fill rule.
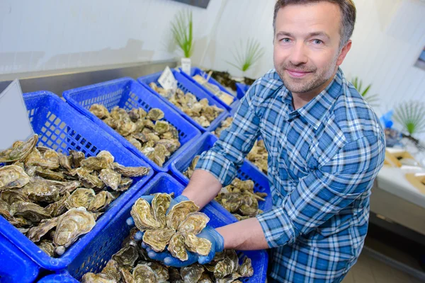
[[[220,137],[220,134],[224,129],[227,129],[232,125],[233,118],[227,117],[226,120],[221,122],[220,127],[217,127],[213,134],[215,134],[216,137]],[[249,154],[246,156],[246,158],[254,163],[254,165],[259,168],[264,174],[267,175],[267,158],[268,158],[268,152],[266,149],[266,146],[264,146],[263,139],[260,139],[255,142],[254,146],[252,147]]]

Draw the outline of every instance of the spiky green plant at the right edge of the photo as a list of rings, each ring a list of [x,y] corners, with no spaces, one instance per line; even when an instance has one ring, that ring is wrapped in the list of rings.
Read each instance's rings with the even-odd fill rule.
[[[425,105],[420,101],[404,101],[394,110],[394,120],[409,133],[425,132]]]

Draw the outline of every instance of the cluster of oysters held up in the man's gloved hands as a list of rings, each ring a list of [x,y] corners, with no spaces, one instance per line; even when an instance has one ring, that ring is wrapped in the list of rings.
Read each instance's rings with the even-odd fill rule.
[[[145,231],[143,242],[156,252],[162,252],[168,245],[168,250],[175,258],[188,260],[187,250],[208,255],[211,242],[199,238],[210,219],[206,214],[198,212],[199,207],[192,201],[183,201],[174,205],[166,214],[171,203],[171,195],[156,194],[149,202],[140,198],[131,209],[131,216],[137,229]]]

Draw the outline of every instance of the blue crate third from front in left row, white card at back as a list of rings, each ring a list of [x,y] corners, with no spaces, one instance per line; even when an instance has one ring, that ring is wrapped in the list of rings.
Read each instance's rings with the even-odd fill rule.
[[[169,102],[169,100],[166,100],[166,98],[162,97],[159,93],[154,91],[149,86],[149,83],[158,83],[159,76],[161,76],[162,72],[159,72],[159,73],[156,73],[156,74],[151,74],[151,75],[148,75],[148,76],[142,76],[139,79],[137,79],[137,81],[139,81],[142,84],[142,86],[147,88],[149,91],[154,93],[156,96],[158,96],[162,100],[166,101],[166,103],[168,103],[168,105],[170,105],[177,112],[179,112],[180,115],[185,117],[186,120],[191,122],[198,129],[200,129],[200,131],[210,132],[210,130],[213,127],[217,127],[216,125],[220,124],[220,122],[223,120],[223,117],[225,117],[227,115],[226,108],[223,105],[221,105],[221,103],[217,102],[217,100],[215,100],[215,98],[213,96],[211,96],[209,93],[207,93],[206,91],[203,91],[202,88],[200,88],[196,84],[192,83],[191,80],[186,78],[186,76],[183,76],[179,71],[176,71],[174,69],[172,69],[171,71],[174,74],[174,78],[176,78],[177,86],[179,88],[181,88],[182,91],[184,91],[185,93],[187,93],[187,92],[192,93],[194,96],[196,96],[196,98],[198,98],[198,100],[201,100],[203,98],[207,98],[210,105],[217,105],[218,108],[221,108],[222,110],[224,110],[217,118],[215,118],[214,121],[211,122],[210,127],[205,128],[205,127],[202,127],[201,125],[199,125],[197,122],[195,122],[195,120],[192,119],[192,117],[187,115],[185,112],[181,111],[179,108],[176,107],[176,105]]]

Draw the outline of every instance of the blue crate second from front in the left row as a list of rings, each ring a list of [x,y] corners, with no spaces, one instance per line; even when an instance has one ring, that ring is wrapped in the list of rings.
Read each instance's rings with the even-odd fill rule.
[[[67,103],[86,115],[86,117],[89,117],[96,125],[106,130],[108,134],[111,134],[111,136],[120,141],[127,149],[130,149],[134,154],[143,158],[152,168],[159,172],[169,171],[171,161],[183,152],[189,141],[200,136],[200,132],[196,127],[184,120],[178,112],[164,103],[162,99],[153,95],[150,91],[147,91],[146,88],[140,86],[140,83],[137,83],[137,81],[131,78],[116,79],[104,83],[97,83],[92,86],[74,88],[69,91],[64,91],[63,95]],[[166,160],[162,167],[157,166],[154,161],[147,158],[145,154],[142,154],[142,152],[133,146],[130,141],[122,137],[118,132],[115,132],[115,129],[106,125],[105,122],[89,111],[91,105],[95,103],[104,105],[110,111],[115,106],[119,106],[125,110],[131,110],[132,108],[143,108],[146,111],[152,108],[161,109],[164,111],[164,120],[174,125],[179,131],[181,147]]]

